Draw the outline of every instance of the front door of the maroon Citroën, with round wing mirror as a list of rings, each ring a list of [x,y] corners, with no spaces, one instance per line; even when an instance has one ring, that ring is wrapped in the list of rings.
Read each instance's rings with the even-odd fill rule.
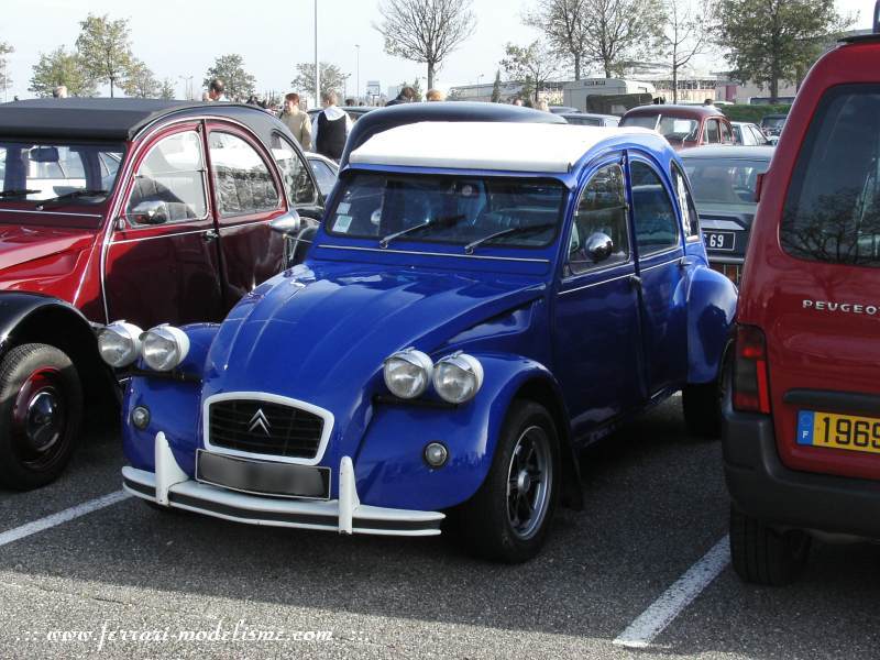
[[[178,124],[134,155],[134,176],[106,248],[110,320],[146,329],[219,320],[226,312],[202,136],[200,122]]]

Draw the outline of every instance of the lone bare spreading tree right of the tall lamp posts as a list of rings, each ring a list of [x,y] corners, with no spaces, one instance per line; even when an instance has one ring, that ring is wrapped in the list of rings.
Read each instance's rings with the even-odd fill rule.
[[[472,0],[380,0],[385,52],[428,65],[428,89],[447,58],[474,33]]]

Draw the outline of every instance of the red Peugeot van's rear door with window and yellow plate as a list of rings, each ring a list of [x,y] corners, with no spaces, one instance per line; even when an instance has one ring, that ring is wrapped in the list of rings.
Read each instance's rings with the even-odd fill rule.
[[[780,455],[880,479],[880,85],[825,91],[781,217],[761,320]]]

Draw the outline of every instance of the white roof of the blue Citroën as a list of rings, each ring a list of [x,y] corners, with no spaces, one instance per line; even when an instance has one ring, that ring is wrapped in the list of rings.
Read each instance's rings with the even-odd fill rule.
[[[432,121],[373,135],[351,153],[350,161],[362,165],[566,174],[590,150],[622,136],[653,146],[652,138],[658,135],[639,128]],[[662,144],[668,147],[666,141]]]

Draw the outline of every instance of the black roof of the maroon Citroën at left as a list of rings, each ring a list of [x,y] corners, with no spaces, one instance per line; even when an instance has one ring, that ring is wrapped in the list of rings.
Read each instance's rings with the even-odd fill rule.
[[[209,111],[215,116],[239,118],[258,118],[258,114],[270,117],[265,110],[254,106],[223,102],[105,98],[30,99],[0,103],[0,135],[37,140],[69,138],[128,141],[156,120],[187,111]]]

